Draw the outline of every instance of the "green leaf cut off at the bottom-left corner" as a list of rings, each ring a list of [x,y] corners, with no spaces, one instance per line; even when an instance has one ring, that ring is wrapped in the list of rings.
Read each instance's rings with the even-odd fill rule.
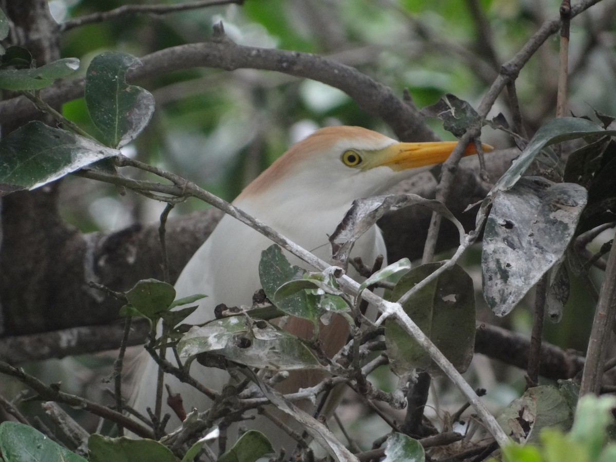
[[[29,425],[0,424],[0,452],[6,462],[87,462]]]

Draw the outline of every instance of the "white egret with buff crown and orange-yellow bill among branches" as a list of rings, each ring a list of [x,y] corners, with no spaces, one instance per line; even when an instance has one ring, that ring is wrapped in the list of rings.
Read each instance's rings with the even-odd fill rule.
[[[381,194],[400,180],[445,161],[456,144],[400,143],[359,127],[322,128],[294,144],[251,182],[233,205],[327,261],[330,256],[328,234],[336,229],[352,201]],[[476,151],[469,145],[465,155],[472,153]],[[176,282],[178,298],[196,293],[208,295],[185,322],[198,324],[213,319],[214,307],[219,303],[227,306],[250,304],[254,291],[261,287],[257,272],[261,251],[270,245],[271,241],[261,233],[230,216],[223,217]],[[378,254],[386,256],[386,249],[380,230],[372,227],[357,241],[352,256],[371,262]],[[290,261],[301,265],[294,257],[290,257]],[[331,322],[321,331],[325,351],[330,355],[347,339],[346,322],[340,323],[342,318],[338,318],[338,322]],[[285,328],[308,336],[310,331],[306,323],[295,321],[290,320]],[[169,349],[167,359],[175,363]],[[147,353],[140,357],[132,405],[144,415],[146,407],[154,407],[157,371],[158,366]],[[198,364],[193,365],[190,373],[217,390],[229,380],[225,371]],[[192,387],[170,375],[165,375],[164,383],[182,395],[187,410],[208,408],[209,400]],[[310,384],[283,382],[281,389],[290,392],[299,386]],[[171,424],[179,423],[166,405],[163,411],[172,415]],[[268,436],[276,449],[281,444],[286,444],[288,451],[294,447],[294,444],[289,446],[288,439],[285,441],[286,436]]]

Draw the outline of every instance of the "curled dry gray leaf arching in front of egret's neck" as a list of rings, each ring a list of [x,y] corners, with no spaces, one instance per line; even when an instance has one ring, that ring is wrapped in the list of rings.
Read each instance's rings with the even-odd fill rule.
[[[437,200],[426,199],[416,194],[399,194],[375,196],[353,201],[336,230],[330,236],[332,258],[347,266],[349,253],[363,233],[365,233],[379,218],[390,210],[397,210],[410,205],[423,205],[442,214],[456,225],[460,232],[460,241],[464,239],[464,227],[455,216]]]

